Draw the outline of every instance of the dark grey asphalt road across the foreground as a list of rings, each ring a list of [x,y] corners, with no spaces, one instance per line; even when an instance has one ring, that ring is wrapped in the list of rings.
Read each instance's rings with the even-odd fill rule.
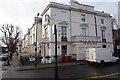
[[[54,78],[54,68],[4,71],[3,78]],[[120,65],[109,64],[104,67],[95,65],[77,65],[59,67],[60,78],[94,79],[94,78],[120,78]]]

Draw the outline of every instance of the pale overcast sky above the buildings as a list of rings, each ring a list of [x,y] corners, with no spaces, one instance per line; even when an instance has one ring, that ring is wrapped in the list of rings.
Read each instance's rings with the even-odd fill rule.
[[[37,13],[41,13],[49,1],[68,4],[70,0],[0,0],[0,25],[14,24],[25,34],[34,22]],[[119,0],[77,0],[95,6],[96,10],[111,13],[117,17]],[[101,2],[102,1],[102,2]]]

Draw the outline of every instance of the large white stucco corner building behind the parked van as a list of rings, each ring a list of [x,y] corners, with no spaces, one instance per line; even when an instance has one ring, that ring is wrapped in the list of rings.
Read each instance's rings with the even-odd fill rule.
[[[94,6],[70,1],[70,5],[50,2],[42,16],[42,56],[54,56],[52,26],[57,26],[58,55],[74,54],[85,60],[85,48],[111,48],[113,51],[111,16],[94,10]]]

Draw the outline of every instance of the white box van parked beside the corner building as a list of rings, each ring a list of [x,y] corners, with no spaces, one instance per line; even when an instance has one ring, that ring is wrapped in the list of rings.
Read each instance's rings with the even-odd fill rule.
[[[110,48],[87,48],[85,51],[86,61],[100,63],[119,61],[118,57],[112,55]]]

